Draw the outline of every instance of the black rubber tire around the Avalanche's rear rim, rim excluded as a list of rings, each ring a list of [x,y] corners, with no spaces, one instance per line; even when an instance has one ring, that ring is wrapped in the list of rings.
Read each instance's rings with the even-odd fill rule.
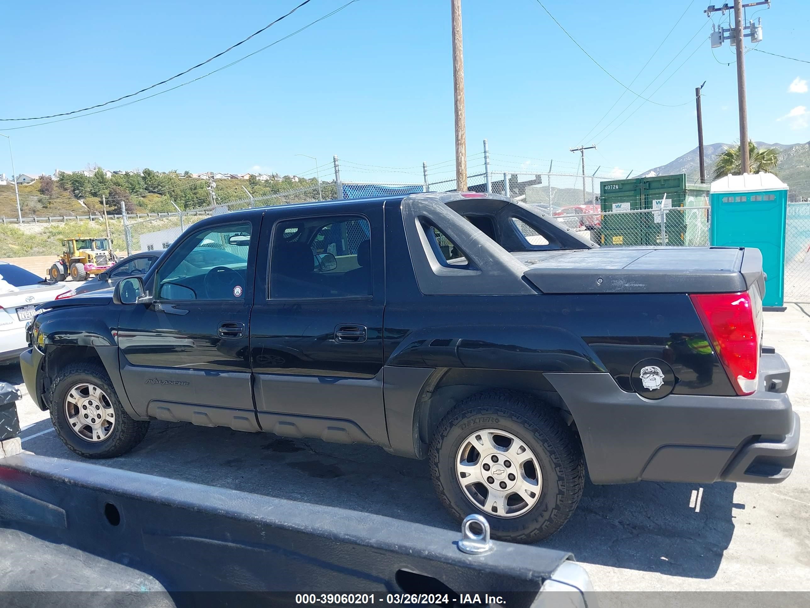
[[[582,490],[585,488],[585,463],[582,448],[573,431],[552,408],[544,406],[534,397],[516,391],[490,390],[476,393],[460,401],[440,422],[430,444],[428,461],[433,486],[441,503],[456,519],[461,521],[469,514],[459,510],[448,499],[439,474],[439,453],[450,430],[459,422],[471,415],[493,414],[509,418],[531,432],[548,450],[560,478],[557,490],[561,499],[538,527],[526,533],[497,534],[494,529],[492,530],[492,537],[500,536],[503,540],[520,543],[538,542],[561,529],[576,510],[582,497]]]

